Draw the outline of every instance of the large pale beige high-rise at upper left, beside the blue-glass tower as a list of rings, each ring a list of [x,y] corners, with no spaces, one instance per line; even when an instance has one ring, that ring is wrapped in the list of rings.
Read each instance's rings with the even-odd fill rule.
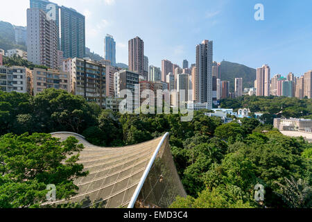
[[[27,9],[27,59],[35,65],[58,67],[57,26],[38,8]]]

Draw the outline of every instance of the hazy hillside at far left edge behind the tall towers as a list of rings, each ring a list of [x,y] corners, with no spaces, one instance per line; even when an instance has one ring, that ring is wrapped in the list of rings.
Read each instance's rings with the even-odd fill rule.
[[[0,49],[21,49],[27,51],[25,45],[15,44],[15,31],[12,24],[0,21]]]

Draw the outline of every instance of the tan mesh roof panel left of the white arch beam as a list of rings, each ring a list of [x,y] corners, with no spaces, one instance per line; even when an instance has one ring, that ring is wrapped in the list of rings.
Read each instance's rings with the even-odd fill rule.
[[[157,145],[162,137],[149,142],[120,148],[105,148],[89,144],[83,137],[71,133],[57,133],[53,137],[67,139],[76,137],[85,148],[80,152],[79,164],[83,164],[84,171],[89,171],[86,177],[74,180],[79,187],[78,195],[69,202],[79,202],[87,197],[89,207],[100,203],[101,207],[126,207],[143,176]],[[66,203],[60,200],[55,203]]]

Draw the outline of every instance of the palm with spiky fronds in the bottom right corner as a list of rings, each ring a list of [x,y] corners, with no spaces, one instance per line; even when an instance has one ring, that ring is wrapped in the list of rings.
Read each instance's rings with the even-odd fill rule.
[[[295,180],[284,178],[285,185],[275,181],[279,185],[282,193],[278,196],[291,208],[311,208],[312,207],[312,187],[306,180]]]

